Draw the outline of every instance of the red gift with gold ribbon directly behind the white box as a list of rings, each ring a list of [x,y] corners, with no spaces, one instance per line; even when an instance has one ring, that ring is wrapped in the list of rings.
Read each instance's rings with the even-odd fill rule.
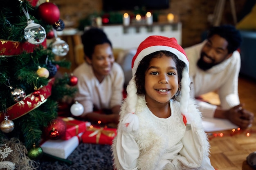
[[[61,139],[68,140],[81,132],[85,132],[86,127],[90,126],[90,122],[76,120],[73,117],[61,117],[63,121],[65,121],[67,125],[67,130]]]

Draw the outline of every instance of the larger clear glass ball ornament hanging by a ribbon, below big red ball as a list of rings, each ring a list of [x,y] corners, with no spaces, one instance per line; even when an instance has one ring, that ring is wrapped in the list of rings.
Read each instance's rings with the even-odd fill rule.
[[[46,31],[40,24],[36,24],[34,20],[28,20],[24,29],[24,37],[31,44],[41,44],[46,38]]]

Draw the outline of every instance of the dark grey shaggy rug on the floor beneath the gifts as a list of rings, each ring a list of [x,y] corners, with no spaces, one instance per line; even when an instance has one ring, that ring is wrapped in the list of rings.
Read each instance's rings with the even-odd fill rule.
[[[113,170],[110,149],[110,145],[81,143],[66,161],[43,155],[38,170]]]

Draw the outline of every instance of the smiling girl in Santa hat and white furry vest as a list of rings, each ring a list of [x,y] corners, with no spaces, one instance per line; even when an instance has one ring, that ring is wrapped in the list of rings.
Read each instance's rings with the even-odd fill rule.
[[[175,38],[150,36],[139,45],[112,144],[117,170],[214,170],[188,68]]]

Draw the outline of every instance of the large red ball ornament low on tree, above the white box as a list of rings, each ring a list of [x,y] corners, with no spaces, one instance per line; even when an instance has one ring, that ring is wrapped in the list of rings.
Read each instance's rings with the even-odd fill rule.
[[[52,120],[47,128],[45,128],[44,133],[48,139],[56,140],[62,137],[66,132],[67,126],[65,121],[61,118],[56,118]]]

